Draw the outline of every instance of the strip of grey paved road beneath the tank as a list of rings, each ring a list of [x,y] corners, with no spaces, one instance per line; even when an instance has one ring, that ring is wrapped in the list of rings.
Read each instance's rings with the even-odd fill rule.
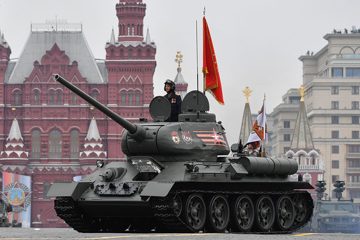
[[[126,234],[78,233],[70,228],[0,228],[1,240],[359,240],[358,234]]]

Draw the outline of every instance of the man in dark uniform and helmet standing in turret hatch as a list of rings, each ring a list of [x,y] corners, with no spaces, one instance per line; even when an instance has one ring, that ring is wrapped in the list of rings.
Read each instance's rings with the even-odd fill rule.
[[[171,115],[168,121],[178,121],[178,117],[181,112],[181,97],[179,94],[175,93],[174,82],[168,79],[164,84],[164,91],[167,93],[164,97],[169,100],[171,104]]]

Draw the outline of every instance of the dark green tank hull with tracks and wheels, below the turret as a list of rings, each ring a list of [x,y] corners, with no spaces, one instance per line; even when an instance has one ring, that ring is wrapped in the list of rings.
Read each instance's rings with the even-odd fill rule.
[[[79,232],[134,233],[292,232],[311,219],[313,201],[307,191],[300,190],[310,189],[311,185],[296,182],[288,175],[244,173],[236,179],[237,175],[228,170],[229,161],[192,162],[199,167],[197,171],[189,171],[186,162],[162,162],[164,169],[153,179],[145,179],[134,162],[105,166],[104,169],[126,169],[120,179],[104,181],[99,175],[105,170],[99,169],[79,182],[54,182],[48,195],[56,196],[57,215]],[[242,167],[238,172],[241,169],[246,171]],[[281,224],[288,220],[277,213],[283,205],[287,208],[282,198],[290,201],[293,208],[285,228]],[[241,217],[241,203],[252,205],[249,216]],[[271,214],[261,215],[268,208]],[[241,227],[247,218],[252,223]],[[264,223],[264,219],[270,223]],[[200,225],[194,225],[195,221],[200,221]],[[217,221],[225,225],[219,227]]]

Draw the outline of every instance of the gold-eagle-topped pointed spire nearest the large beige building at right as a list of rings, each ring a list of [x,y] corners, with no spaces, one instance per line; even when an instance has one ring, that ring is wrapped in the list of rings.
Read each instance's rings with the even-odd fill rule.
[[[290,149],[314,149],[314,143],[311,137],[308,116],[306,114],[305,102],[303,98],[307,89],[301,86],[301,88],[298,90],[301,95],[301,100]]]

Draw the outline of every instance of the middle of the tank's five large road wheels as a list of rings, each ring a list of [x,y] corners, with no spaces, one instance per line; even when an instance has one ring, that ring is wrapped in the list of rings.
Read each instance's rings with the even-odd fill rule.
[[[235,232],[249,232],[255,219],[254,204],[251,198],[248,195],[240,195],[231,205],[231,212],[231,223]]]

